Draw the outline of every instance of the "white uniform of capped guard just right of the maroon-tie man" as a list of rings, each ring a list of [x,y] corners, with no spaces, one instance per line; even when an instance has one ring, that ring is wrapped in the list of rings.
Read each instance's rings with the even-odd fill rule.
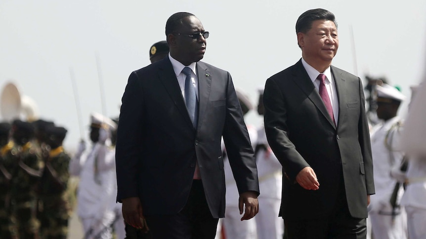
[[[396,127],[398,117],[379,123],[372,129],[371,148],[373,154],[374,185],[376,194],[371,195],[369,220],[373,237],[378,239],[407,238],[406,214],[401,207],[392,216],[390,198],[397,180],[390,175],[392,168],[401,165],[404,154],[400,150],[401,129]],[[399,131],[398,131],[399,129]],[[397,203],[403,194],[402,185],[398,191]]]

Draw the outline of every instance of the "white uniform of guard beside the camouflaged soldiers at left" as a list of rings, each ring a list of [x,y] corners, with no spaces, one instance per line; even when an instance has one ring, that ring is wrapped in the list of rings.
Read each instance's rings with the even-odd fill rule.
[[[102,143],[95,143],[87,155],[74,158],[70,163],[70,173],[80,176],[77,214],[87,239],[92,239],[98,234],[100,239],[112,238],[110,225],[115,213],[111,208],[110,199],[116,186],[112,175],[115,174],[114,167],[115,157],[110,153],[108,146]]]

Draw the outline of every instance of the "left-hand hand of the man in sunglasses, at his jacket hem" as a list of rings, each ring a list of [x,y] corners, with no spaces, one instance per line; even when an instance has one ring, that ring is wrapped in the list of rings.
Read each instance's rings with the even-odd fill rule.
[[[123,218],[130,226],[135,228],[143,228],[142,205],[138,197],[123,199],[122,206]]]

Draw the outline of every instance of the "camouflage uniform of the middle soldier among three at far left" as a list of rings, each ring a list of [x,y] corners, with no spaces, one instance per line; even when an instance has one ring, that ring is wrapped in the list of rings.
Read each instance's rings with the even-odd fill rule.
[[[40,222],[36,217],[37,193],[41,169],[40,152],[31,142],[19,147],[19,167],[12,177],[12,213],[16,218],[18,234],[21,239],[38,239]]]

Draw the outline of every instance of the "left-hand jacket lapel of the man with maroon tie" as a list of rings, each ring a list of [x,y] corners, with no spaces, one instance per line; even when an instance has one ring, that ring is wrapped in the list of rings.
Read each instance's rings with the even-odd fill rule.
[[[314,103],[314,105],[321,111],[324,117],[327,118],[329,123],[336,129],[336,125],[333,122],[333,119],[330,117],[330,114],[327,111],[327,108],[324,102],[321,99],[318,91],[315,89],[314,84],[309,78],[308,73],[302,65],[301,59],[296,63],[296,68],[294,71],[295,77],[293,81],[300,87],[300,89],[307,95],[309,100]]]

